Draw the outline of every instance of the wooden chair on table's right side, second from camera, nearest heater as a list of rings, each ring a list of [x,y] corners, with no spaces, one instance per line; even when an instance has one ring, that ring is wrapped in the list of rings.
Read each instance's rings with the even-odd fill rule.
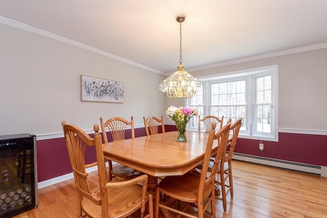
[[[227,209],[226,196],[228,195],[228,192],[230,192],[230,198],[233,198],[233,177],[231,170],[231,159],[235,150],[237,139],[239,137],[241,126],[242,118],[239,118],[238,120],[236,120],[235,123],[230,126],[230,130],[232,130],[233,135],[232,138],[229,139],[230,143],[227,147],[229,148],[229,150],[228,153],[226,152],[226,157],[224,158],[224,161],[222,161],[223,164],[219,165],[218,174],[220,175],[220,181],[215,181],[217,185],[221,186],[221,197],[218,197],[218,199],[223,200],[224,211],[226,211]],[[209,168],[211,167],[213,167],[212,164],[211,166],[209,166]],[[227,179],[229,179],[228,183],[226,183]]]

